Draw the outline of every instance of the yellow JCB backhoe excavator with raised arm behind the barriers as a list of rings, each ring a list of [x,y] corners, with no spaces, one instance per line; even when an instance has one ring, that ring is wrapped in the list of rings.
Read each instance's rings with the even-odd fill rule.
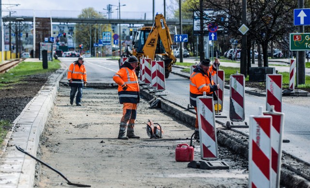
[[[138,59],[148,57],[165,62],[165,78],[169,77],[172,65],[176,62],[173,55],[172,40],[165,17],[162,14],[155,16],[153,27],[141,27],[137,31],[130,31],[132,46],[127,47],[127,54],[134,55]],[[140,61],[136,69],[140,71]]]

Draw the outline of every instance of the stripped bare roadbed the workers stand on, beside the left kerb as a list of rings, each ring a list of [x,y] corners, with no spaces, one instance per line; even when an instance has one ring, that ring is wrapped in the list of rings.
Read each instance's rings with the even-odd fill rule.
[[[118,140],[122,105],[117,89],[83,89],[82,106],[69,104],[69,88],[61,87],[55,107],[41,137],[39,156],[71,182],[94,188],[246,188],[248,162],[220,147],[219,159],[229,170],[187,168],[175,161],[177,144],[190,144],[193,129],[160,109],[150,109],[147,101],[138,106],[135,133],[141,139]],[[162,139],[146,134],[148,119],[159,123]],[[200,160],[196,141],[195,160]],[[66,181],[38,165],[35,187],[69,187]]]

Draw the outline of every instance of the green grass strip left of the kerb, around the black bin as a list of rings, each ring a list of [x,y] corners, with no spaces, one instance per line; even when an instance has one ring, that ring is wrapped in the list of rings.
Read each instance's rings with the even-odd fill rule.
[[[9,72],[0,74],[0,89],[9,87],[12,84],[19,83],[21,79],[28,75],[42,74],[47,72],[55,72],[60,68],[60,61],[54,59],[48,61],[48,69],[43,69],[42,62],[21,62]]]

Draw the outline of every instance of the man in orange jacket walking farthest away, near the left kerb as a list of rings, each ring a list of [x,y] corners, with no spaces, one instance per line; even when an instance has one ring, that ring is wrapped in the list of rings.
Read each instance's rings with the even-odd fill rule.
[[[78,58],[77,61],[74,61],[70,65],[68,70],[68,81],[69,86],[71,87],[70,104],[73,104],[74,97],[78,91],[76,104],[77,106],[81,106],[82,88],[86,86],[87,83],[87,75],[83,57]]]

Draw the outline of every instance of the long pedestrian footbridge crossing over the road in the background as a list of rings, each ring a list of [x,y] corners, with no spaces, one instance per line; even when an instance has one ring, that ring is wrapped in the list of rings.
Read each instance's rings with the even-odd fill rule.
[[[153,12],[121,12],[121,19],[118,13],[102,14],[100,17],[79,18],[82,11],[59,11],[59,10],[26,10],[15,9],[11,11],[2,11],[3,22],[8,21],[23,21],[33,22],[33,17],[51,18],[52,22],[56,23],[85,23],[85,24],[144,24],[153,25]],[[163,13],[159,13],[163,14]],[[109,17],[109,18],[108,18]],[[179,25],[179,17],[174,17],[173,14],[166,14],[167,25]],[[193,25],[192,13],[183,14],[182,25]]]

